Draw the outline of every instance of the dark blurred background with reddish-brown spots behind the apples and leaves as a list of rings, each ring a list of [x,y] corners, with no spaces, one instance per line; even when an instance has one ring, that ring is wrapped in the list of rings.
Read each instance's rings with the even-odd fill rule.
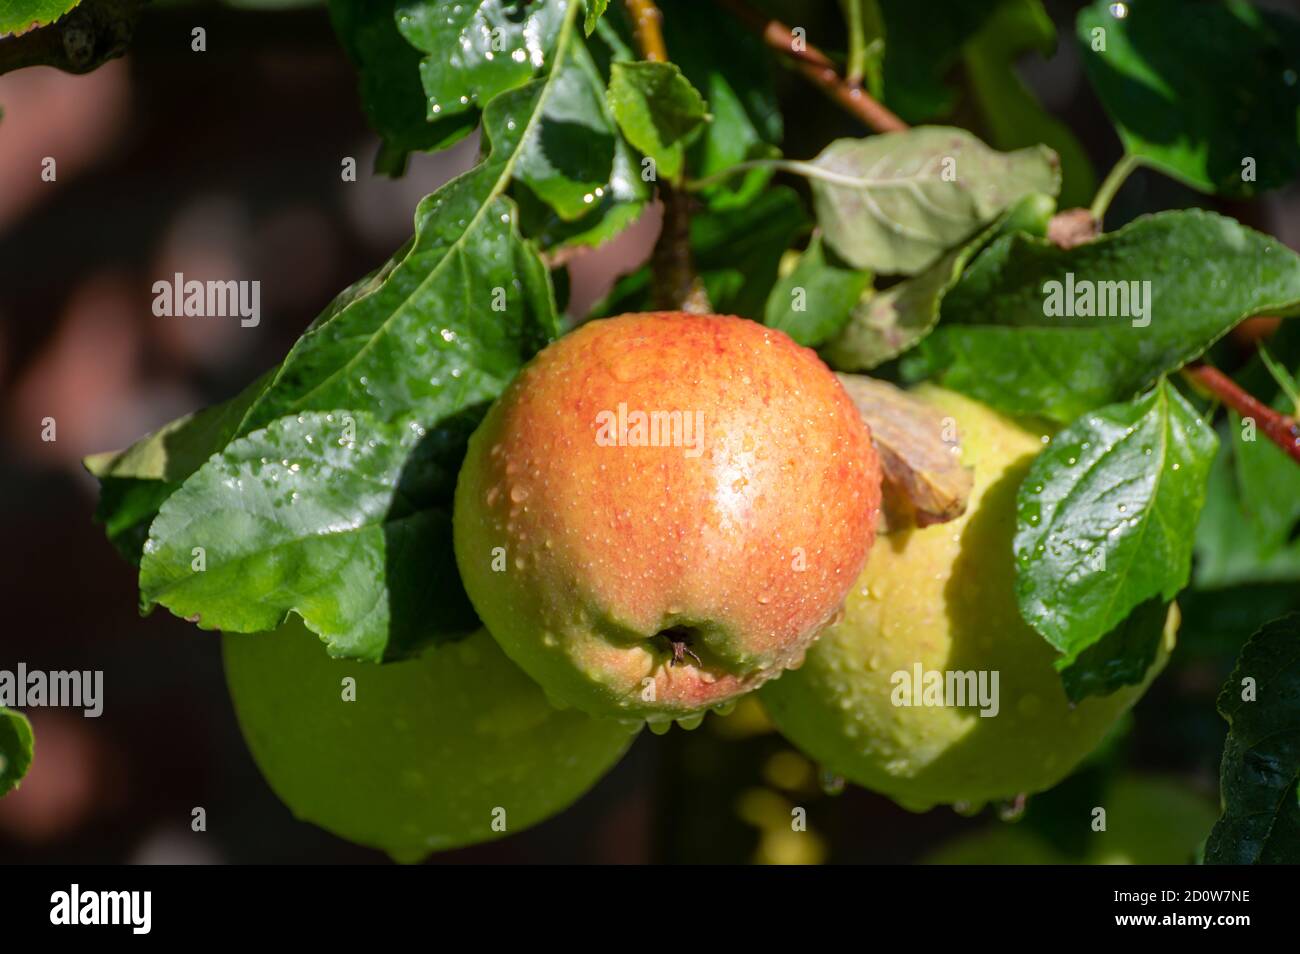
[[[1048,4],[1062,43],[1020,71],[1105,173],[1119,143],[1079,68],[1076,6]],[[785,8],[788,23],[837,48],[832,17]],[[207,29],[205,53],[191,52],[194,26]],[[786,155],[864,134],[774,69]],[[959,68],[953,79],[959,87]],[[135,573],[92,522],[95,482],[79,461],[272,367],[334,294],[410,235],[417,200],[467,168],[477,142],[417,155],[402,179],[372,175],[378,140],[320,4],[157,5],[130,53],[88,75],[0,75],[0,668],[103,669],[105,686],[99,719],[27,711],[36,756],[0,801],[0,862],[385,862],[295,821],[266,788],[226,697],[217,638],[165,611],[138,615]],[[954,120],[979,127],[961,108]],[[40,175],[47,156],[57,160],[53,182]],[[347,156],[356,182],[341,181]],[[1139,172],[1108,227],[1196,204],[1206,199]],[[1300,248],[1295,187],[1213,207]],[[656,231],[651,209],[610,246],[572,260],[571,316],[640,265]],[[151,286],[176,272],[261,281],[261,324],[155,317]],[[1231,361],[1249,344],[1236,337],[1225,347]],[[57,422],[53,442],[42,439],[46,417]],[[1030,801],[1015,831],[1069,854],[1053,819],[1096,803],[1117,772],[1171,780],[1213,816],[1225,733],[1214,697],[1240,643],[1300,597],[1292,581],[1191,593],[1182,603],[1183,634],[1165,676],[1102,753]],[[642,733],[559,818],[430,860],[901,863],[1002,824],[993,810],[914,815],[837,788],[757,706],[742,704],[696,732]],[[793,805],[807,808],[810,837],[789,832]],[[207,810],[203,833],[190,831],[196,806]]]

